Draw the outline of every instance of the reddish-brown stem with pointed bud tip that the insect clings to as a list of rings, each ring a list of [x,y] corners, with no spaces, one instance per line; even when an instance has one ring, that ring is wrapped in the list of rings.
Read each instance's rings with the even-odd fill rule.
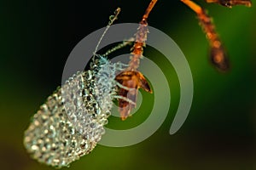
[[[148,34],[148,14],[154,8],[154,4],[157,0],[152,0],[146,9],[143,19],[140,21],[140,26],[137,29],[135,42],[132,47],[129,66],[125,71],[122,71],[115,77],[115,80],[119,82],[119,112],[122,120],[125,120],[127,116],[130,116],[131,110],[136,107],[137,92],[139,88],[143,88],[145,91],[152,93],[151,88],[143,74],[137,71],[140,64],[140,59],[143,57],[143,46],[147,40]],[[125,88],[124,88],[125,87]]]

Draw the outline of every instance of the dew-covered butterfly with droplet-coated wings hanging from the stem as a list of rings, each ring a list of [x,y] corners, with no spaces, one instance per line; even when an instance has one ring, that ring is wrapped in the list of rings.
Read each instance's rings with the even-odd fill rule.
[[[110,17],[102,37],[119,12],[117,8]],[[90,70],[77,72],[49,96],[25,131],[24,145],[33,159],[67,167],[94,149],[105,132],[116,94],[114,78],[121,68],[121,63],[94,54]]]

